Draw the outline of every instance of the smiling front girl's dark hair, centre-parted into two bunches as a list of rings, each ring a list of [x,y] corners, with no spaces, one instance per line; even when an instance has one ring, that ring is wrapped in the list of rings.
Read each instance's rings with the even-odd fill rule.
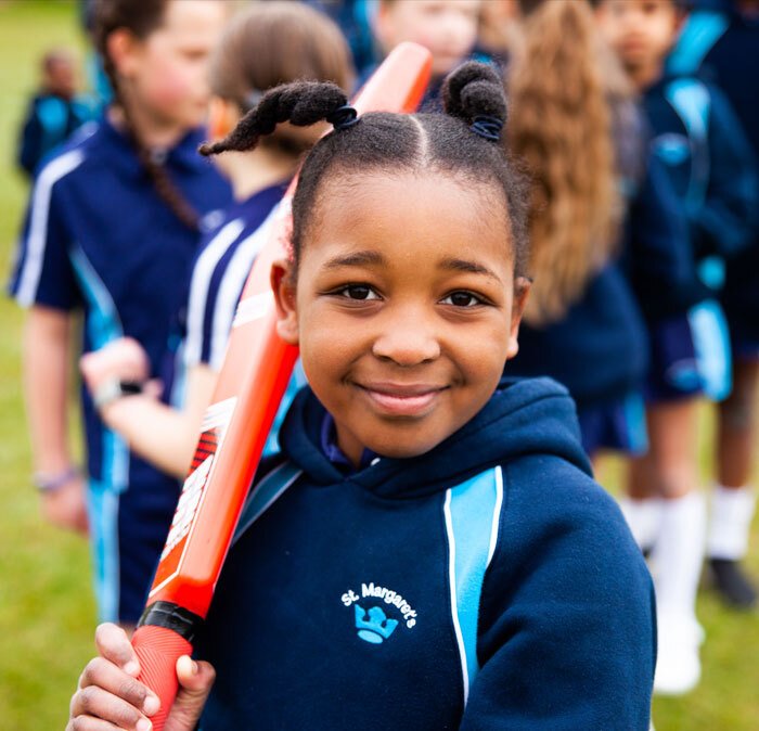
[[[304,162],[293,200],[296,268],[325,181],[339,184],[340,177],[429,170],[467,185],[494,189],[494,205],[503,206],[507,219],[504,238],[511,234],[515,274],[522,275],[527,259],[526,185],[502,145],[473,131],[483,118],[486,124],[505,121],[501,79],[492,67],[469,62],[446,79],[442,98],[446,114],[371,112],[348,126],[339,121],[347,99],[335,85],[288,84],[266,93],[227,139],[203,145],[201,152],[213,155],[249,150],[279,123],[308,126],[326,119],[337,128],[323,137]]]

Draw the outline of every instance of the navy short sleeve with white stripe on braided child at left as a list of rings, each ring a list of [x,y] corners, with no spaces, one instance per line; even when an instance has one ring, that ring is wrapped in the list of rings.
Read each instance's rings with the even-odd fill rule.
[[[82,159],[80,150],[61,155],[42,168],[35,182],[10,282],[11,294],[23,307],[69,310],[79,303],[59,183]]]

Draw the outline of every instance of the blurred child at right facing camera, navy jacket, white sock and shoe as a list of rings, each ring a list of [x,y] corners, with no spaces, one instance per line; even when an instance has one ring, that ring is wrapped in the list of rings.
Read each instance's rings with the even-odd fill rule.
[[[683,20],[674,0],[605,0],[599,20],[612,48],[643,94],[652,148],[664,163],[690,228],[696,271],[686,312],[649,325],[647,383],[649,451],[632,464],[626,505],[631,525],[652,520],[642,537],[652,549],[659,657],[655,689],[680,694],[699,678],[703,630],[695,614],[705,542],[705,506],[697,492],[698,396],[730,392],[726,324],[710,274],[750,235],[756,194],[750,152],[738,123],[716,89],[664,74]],[[715,291],[708,287],[711,285]],[[713,293],[712,293],[713,292]],[[664,501],[661,500],[664,498]],[[657,515],[658,513],[658,515]],[[658,520],[656,520],[658,518]]]

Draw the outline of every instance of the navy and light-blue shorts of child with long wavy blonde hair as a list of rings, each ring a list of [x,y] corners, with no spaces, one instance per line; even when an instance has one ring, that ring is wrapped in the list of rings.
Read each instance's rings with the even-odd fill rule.
[[[604,403],[578,407],[577,416],[582,447],[591,457],[602,449],[626,454],[643,454],[648,449],[645,406],[638,392]]]

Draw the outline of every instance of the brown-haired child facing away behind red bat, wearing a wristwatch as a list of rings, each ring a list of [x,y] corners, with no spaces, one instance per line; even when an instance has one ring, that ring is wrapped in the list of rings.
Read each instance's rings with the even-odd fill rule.
[[[287,55],[283,48],[299,50]],[[299,3],[267,2],[247,9],[230,23],[211,59],[211,134],[223,138],[262,92],[297,79],[334,81],[343,89],[350,88],[349,52],[339,29]],[[323,131],[319,126],[283,126],[256,150],[218,158],[234,189],[235,203],[204,236],[193,264],[179,317],[182,342],[177,352],[167,357],[165,399],[150,393],[118,394],[101,406],[105,423],[134,452],[177,477],[186,474],[197,444],[237,300],[269,234],[270,214],[300,155]],[[85,356],[82,372],[92,393],[113,380],[146,377],[147,373],[131,371],[134,358],[144,362],[139,344],[126,338]]]

